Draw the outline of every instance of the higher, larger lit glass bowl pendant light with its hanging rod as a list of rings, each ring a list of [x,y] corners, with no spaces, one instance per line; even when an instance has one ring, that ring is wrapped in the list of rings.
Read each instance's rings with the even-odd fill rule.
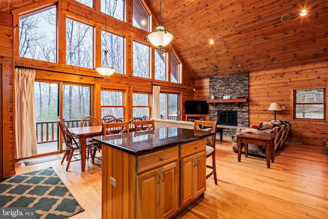
[[[155,31],[148,33],[145,38],[145,41],[149,41],[151,44],[153,44],[155,47],[158,47],[159,49],[169,45],[174,39],[174,34],[161,25],[161,7],[162,1],[159,0],[159,26],[156,27]]]

